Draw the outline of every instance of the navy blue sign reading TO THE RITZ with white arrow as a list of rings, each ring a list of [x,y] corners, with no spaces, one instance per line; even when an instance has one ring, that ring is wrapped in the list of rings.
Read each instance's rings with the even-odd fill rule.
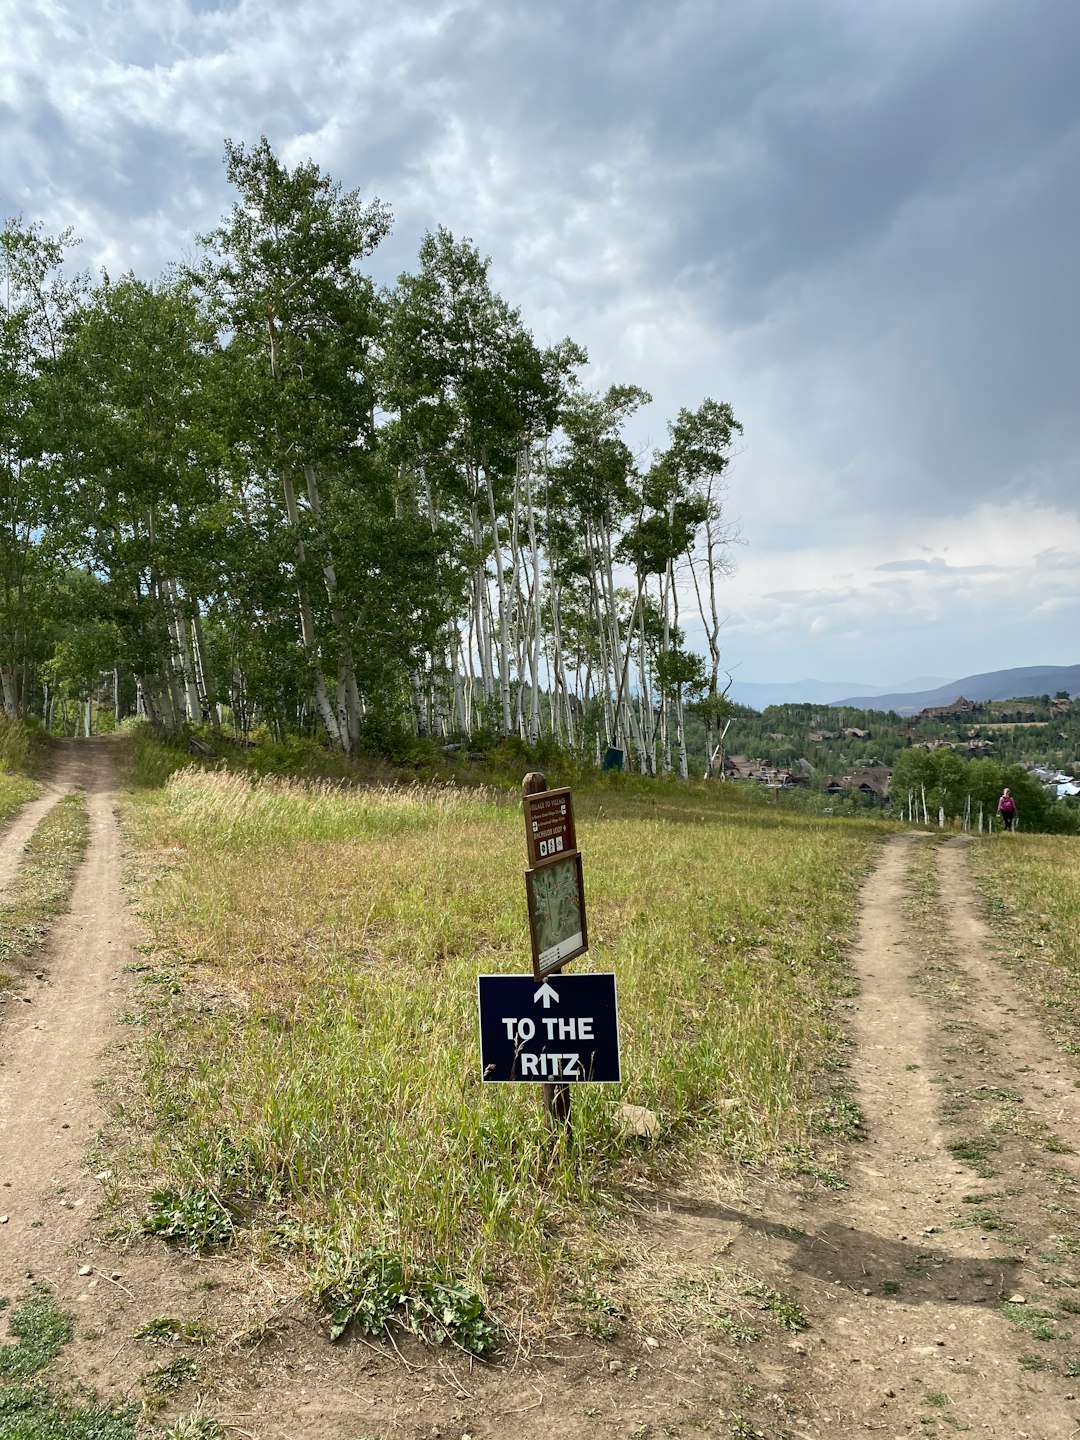
[[[613,975],[478,975],[481,1077],[621,1080]]]

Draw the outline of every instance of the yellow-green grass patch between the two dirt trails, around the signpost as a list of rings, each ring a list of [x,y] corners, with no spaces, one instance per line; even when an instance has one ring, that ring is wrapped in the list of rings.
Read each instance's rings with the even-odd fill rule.
[[[194,769],[131,795],[153,1228],[272,1246],[346,1308],[373,1264],[543,1305],[644,1176],[706,1148],[811,1162],[880,828],[703,786],[576,802],[625,1080],[579,1087],[553,1146],[533,1087],[480,1080],[475,976],[528,971],[516,796]],[[621,1133],[621,1100],[660,1140]]]

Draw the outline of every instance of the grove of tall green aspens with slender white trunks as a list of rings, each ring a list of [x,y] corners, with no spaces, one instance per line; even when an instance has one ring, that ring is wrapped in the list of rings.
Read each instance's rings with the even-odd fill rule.
[[[651,397],[589,393],[471,242],[425,236],[380,289],[384,206],[265,138],[226,168],[230,213],[154,282],[0,235],[6,713],[344,753],[518,736],[685,775],[696,706],[711,755],[732,408],[642,459]]]

